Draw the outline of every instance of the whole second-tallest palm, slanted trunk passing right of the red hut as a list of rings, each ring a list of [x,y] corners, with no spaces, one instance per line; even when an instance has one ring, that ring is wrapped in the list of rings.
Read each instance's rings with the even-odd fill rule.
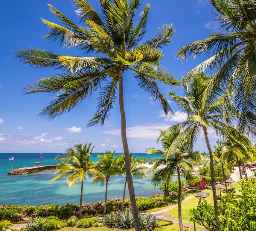
[[[194,75],[194,78],[190,82],[183,79],[185,96],[178,96],[175,92],[169,91],[171,99],[179,106],[183,113],[187,114],[188,118],[184,122],[169,127],[166,131],[171,131],[178,127],[181,130],[179,137],[182,139],[184,136],[190,134],[190,146],[192,147],[193,143],[199,137],[201,129],[203,130],[208,152],[210,154],[213,202],[217,231],[219,231],[218,204],[213,171],[213,154],[207,130],[213,129],[216,133],[225,132],[232,122],[230,114],[235,112],[232,101],[225,102],[224,104],[224,96],[220,96],[218,99],[215,99],[213,95],[211,95],[212,97],[205,97],[213,78],[214,77],[208,77],[203,72],[200,72],[200,74]],[[175,145],[180,145],[182,139],[177,139]]]

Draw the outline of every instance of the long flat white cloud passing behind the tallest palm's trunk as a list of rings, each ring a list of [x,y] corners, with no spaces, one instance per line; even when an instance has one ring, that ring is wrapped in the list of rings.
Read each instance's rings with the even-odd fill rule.
[[[164,123],[145,123],[142,125],[127,127],[126,135],[128,138],[155,140],[159,136],[160,130],[164,130],[169,126],[169,124]],[[105,131],[104,133],[108,135],[121,136],[121,129]]]

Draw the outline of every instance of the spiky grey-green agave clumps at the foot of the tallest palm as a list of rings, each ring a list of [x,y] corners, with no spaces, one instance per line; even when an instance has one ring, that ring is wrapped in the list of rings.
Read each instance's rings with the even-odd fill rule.
[[[157,227],[157,218],[149,214],[147,217],[139,214],[140,228],[152,231]],[[108,228],[131,229],[134,227],[133,214],[131,211],[106,214],[102,222]]]

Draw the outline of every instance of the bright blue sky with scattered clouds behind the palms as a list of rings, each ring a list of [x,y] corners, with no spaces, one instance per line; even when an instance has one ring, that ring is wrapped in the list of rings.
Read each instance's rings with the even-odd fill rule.
[[[80,142],[91,142],[96,145],[95,152],[116,150],[122,152],[120,138],[120,115],[116,105],[111,111],[105,126],[87,128],[87,122],[96,111],[98,92],[76,106],[70,113],[48,121],[37,116],[55,94],[39,93],[23,95],[22,88],[34,83],[41,77],[57,73],[52,68],[33,68],[21,63],[14,57],[15,49],[36,47],[59,52],[63,55],[82,55],[76,49],[66,49],[43,38],[49,32],[41,22],[44,18],[55,23],[58,20],[49,11],[50,3],[62,13],[78,23],[70,0],[13,0],[1,1],[1,44],[0,58],[0,152],[63,152],[68,147]],[[95,9],[98,1],[88,0]],[[137,18],[146,3],[150,3],[149,20],[145,39],[152,36],[157,27],[172,23],[176,32],[173,43],[163,48],[165,56],[162,65],[181,79],[182,75],[194,68],[206,57],[187,60],[182,63],[175,58],[175,52],[189,42],[203,39],[213,31],[219,30],[213,7],[208,0],[141,0]],[[160,129],[183,121],[186,116],[171,103],[175,114],[164,116],[161,107],[150,95],[140,90],[131,72],[126,72],[124,80],[125,110],[127,135],[130,151],[144,152],[146,147],[159,147],[156,138]],[[167,96],[168,86],[160,84],[160,89]],[[181,87],[171,87],[181,94]],[[216,136],[210,133],[213,145]],[[207,151],[203,136],[195,145],[196,150]]]

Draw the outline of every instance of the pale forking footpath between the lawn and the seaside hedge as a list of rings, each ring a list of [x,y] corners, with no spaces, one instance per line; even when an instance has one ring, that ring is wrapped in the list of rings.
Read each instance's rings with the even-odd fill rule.
[[[193,198],[193,197],[194,197],[194,195],[188,196],[183,201],[181,201],[181,203],[184,203],[184,202],[186,202],[187,200],[189,200],[190,198]],[[172,208],[175,208],[177,206],[178,206],[178,204],[172,204],[167,208],[163,208],[161,210],[152,212],[151,214],[156,216],[159,220],[168,220],[168,221],[171,221],[175,224],[178,224],[179,223],[178,220],[176,220],[174,217],[172,217],[172,216],[170,216],[169,214],[166,213],[168,210],[170,210]],[[143,213],[143,214],[147,215],[148,213]],[[189,224],[183,222],[183,226],[187,226],[188,228],[194,230],[194,225],[189,225]],[[207,231],[205,228],[200,228],[200,227],[197,227],[197,226],[196,226],[196,229],[198,231]]]

